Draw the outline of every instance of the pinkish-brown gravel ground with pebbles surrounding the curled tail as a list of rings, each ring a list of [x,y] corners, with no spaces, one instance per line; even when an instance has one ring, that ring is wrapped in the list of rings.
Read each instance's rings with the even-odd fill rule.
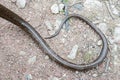
[[[0,18],[0,80],[120,80],[120,1],[69,0],[68,3],[69,14],[87,17],[106,35],[109,53],[104,62],[89,71],[63,67],[51,60],[26,32]],[[0,0],[0,4],[29,22],[42,37],[53,34],[64,18],[64,11],[59,12],[56,6],[62,4],[61,0]],[[69,26],[69,31],[64,26],[47,43],[68,61],[77,64],[93,61],[102,47],[99,36],[81,20],[70,19]],[[75,59],[71,59],[68,56],[75,45],[78,49],[72,56]]]

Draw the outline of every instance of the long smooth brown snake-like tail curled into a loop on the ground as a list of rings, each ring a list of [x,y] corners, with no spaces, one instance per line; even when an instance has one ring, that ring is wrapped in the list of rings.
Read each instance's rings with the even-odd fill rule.
[[[67,17],[65,17],[63,22],[60,25],[60,28],[58,29],[56,34],[53,35],[52,37],[58,35],[61,28],[63,27],[63,24],[72,17],[79,18],[80,20],[83,20],[84,22],[86,22],[100,36],[100,38],[102,39],[102,42],[103,42],[103,47],[102,47],[102,50],[101,50],[98,58],[88,64],[74,64],[74,63],[68,62],[67,60],[61,58],[50,48],[50,46],[45,42],[45,40],[40,36],[40,34],[28,22],[26,22],[21,17],[19,17],[17,14],[15,14],[14,12],[12,12],[11,10],[9,10],[8,8],[4,7],[1,4],[0,4],[0,17],[12,22],[13,24],[22,28],[24,31],[28,32],[40,44],[40,46],[43,48],[43,50],[45,50],[46,53],[53,60],[55,60],[56,62],[66,66],[66,67],[69,67],[69,68],[72,68],[75,70],[91,69],[91,68],[99,65],[101,62],[103,62],[103,60],[105,59],[105,57],[108,53],[108,43],[107,43],[107,39],[106,39],[105,35],[87,18],[85,18],[81,15],[78,15],[78,14],[71,14],[71,15],[68,15]],[[52,37],[49,37],[49,38],[52,38]]]

